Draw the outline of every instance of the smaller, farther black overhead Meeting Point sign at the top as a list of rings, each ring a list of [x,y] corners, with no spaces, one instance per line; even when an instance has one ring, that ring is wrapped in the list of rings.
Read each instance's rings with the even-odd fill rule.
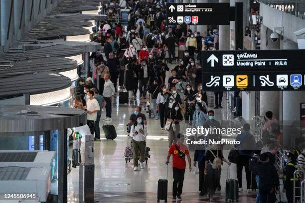
[[[231,14],[230,3],[166,3],[167,25],[229,25]]]

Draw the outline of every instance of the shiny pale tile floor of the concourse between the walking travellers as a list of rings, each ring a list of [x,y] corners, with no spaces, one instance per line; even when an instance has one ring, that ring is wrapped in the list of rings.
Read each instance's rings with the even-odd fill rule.
[[[170,67],[172,68],[172,67]],[[168,78],[168,77],[167,77]],[[209,109],[212,109],[214,94],[208,93]],[[126,124],[129,116],[134,111],[134,107],[144,106],[145,102],[138,99],[130,104],[113,104],[112,122],[116,127],[118,137],[115,140],[106,140],[103,130],[101,130],[101,142],[95,142],[95,200],[101,203],[154,203],[156,202],[158,179],[166,177],[165,160],[167,156],[167,131],[160,130],[159,120],[148,118],[148,138],[147,146],[151,148],[151,158],[145,169],[133,171],[133,160],[125,162],[124,150],[127,146]],[[228,110],[226,95],[223,98],[223,109],[215,109],[215,119],[230,120],[233,116]],[[104,112],[103,112],[104,113]],[[102,116],[104,118],[105,115]],[[147,116],[148,117],[148,116]],[[104,121],[105,123],[105,121]],[[103,122],[101,121],[101,126]],[[180,132],[185,133],[187,123],[183,122]],[[193,152],[190,152],[193,158]],[[227,157],[228,151],[224,151]],[[168,167],[168,202],[171,202],[172,169]],[[68,202],[78,203],[79,169],[73,168],[68,175]],[[243,174],[245,177],[245,174]],[[225,180],[227,178],[227,165],[222,167],[221,185],[222,190],[216,193],[213,203],[225,203]],[[236,166],[232,164],[231,178],[236,177]],[[245,179],[245,178],[244,178]],[[245,180],[244,180],[245,182]],[[246,185],[243,183],[243,185]],[[193,172],[185,172],[183,185],[182,202],[184,203],[204,203],[209,202],[206,197],[199,197],[198,175]],[[239,202],[254,203],[256,194],[240,193]],[[161,201],[162,202],[162,201]],[[173,201],[175,202],[175,201]]]

